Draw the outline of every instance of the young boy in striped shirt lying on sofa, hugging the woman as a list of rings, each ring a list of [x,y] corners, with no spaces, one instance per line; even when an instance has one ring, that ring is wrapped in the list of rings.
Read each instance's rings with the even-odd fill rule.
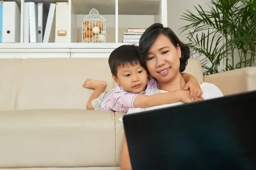
[[[149,76],[146,69],[140,65],[135,45],[122,45],[116,48],[110,54],[108,63],[112,77],[118,86],[109,92],[104,92],[106,82],[87,79],[83,87],[95,90],[87,103],[88,110],[127,112],[129,108],[149,108],[180,100],[186,103],[203,100],[197,79],[187,73],[182,74],[188,82],[183,90],[145,95],[148,89],[157,87],[158,84],[157,80]],[[194,89],[194,94],[198,95],[195,100],[189,99],[189,88]]]

